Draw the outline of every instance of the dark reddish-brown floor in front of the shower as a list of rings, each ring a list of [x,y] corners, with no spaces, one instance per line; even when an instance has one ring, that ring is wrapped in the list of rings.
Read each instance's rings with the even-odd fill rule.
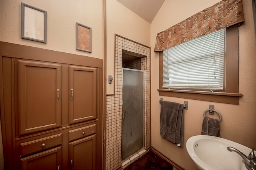
[[[173,167],[150,150],[124,170],[173,170]]]

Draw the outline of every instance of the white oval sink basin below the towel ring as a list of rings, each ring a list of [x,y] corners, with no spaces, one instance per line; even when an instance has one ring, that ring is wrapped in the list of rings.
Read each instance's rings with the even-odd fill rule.
[[[188,154],[200,170],[247,170],[242,158],[228,151],[228,146],[240,150],[246,156],[252,150],[216,136],[192,136],[186,142]]]

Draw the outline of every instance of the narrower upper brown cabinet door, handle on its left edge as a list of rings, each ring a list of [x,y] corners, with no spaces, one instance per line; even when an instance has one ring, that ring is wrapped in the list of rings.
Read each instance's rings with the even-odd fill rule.
[[[69,123],[96,119],[97,69],[70,66],[69,82]]]

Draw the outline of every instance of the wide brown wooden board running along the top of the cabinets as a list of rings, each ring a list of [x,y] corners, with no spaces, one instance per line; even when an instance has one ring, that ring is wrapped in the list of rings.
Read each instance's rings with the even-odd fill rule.
[[[99,68],[103,66],[102,59],[7,42],[0,42],[0,56]]]

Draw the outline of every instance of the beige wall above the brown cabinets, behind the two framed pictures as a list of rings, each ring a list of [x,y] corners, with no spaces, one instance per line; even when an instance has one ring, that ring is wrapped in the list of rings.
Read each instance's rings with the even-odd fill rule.
[[[47,11],[47,43],[20,38],[21,2]],[[76,50],[76,22],[92,28],[92,53]],[[0,0],[0,41],[103,59],[102,0]]]

